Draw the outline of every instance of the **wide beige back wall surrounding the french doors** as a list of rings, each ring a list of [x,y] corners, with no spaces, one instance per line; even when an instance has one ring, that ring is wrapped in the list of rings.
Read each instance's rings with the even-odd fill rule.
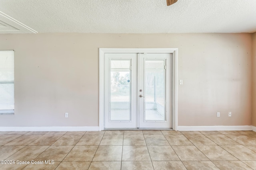
[[[98,126],[99,48],[178,48],[178,125],[252,124],[252,34],[47,33],[0,35],[15,50],[15,114],[0,126]]]

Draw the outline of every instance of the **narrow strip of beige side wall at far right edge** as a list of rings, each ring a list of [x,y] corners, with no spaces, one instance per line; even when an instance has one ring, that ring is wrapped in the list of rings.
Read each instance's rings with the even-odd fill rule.
[[[252,34],[252,125],[256,126],[256,33]]]

